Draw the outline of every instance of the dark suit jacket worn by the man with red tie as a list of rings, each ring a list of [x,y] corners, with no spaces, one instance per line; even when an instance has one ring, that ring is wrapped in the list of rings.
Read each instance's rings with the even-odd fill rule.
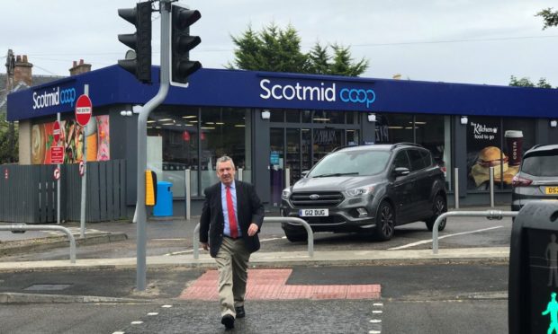
[[[203,190],[205,201],[203,202],[202,217],[200,218],[200,242],[209,242],[210,254],[212,258],[217,256],[220,244],[223,241],[223,231],[225,228],[225,218],[223,217],[223,207],[220,201],[221,182]],[[253,253],[259,250],[259,238],[257,234],[248,236],[248,226],[252,223],[259,228],[264,222],[264,205],[257,197],[256,189],[249,183],[235,180],[237,189],[237,217],[242,240],[246,245],[247,251]]]

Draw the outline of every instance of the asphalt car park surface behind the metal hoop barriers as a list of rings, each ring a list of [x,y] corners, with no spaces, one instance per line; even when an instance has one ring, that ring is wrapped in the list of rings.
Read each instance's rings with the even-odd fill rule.
[[[193,251],[193,230],[197,220],[150,220],[147,224],[147,255],[184,254]],[[78,223],[65,224],[78,228]],[[77,259],[135,257],[137,225],[128,222],[86,224],[87,229],[126,233],[128,240],[79,246]],[[4,235],[12,237],[9,234]],[[452,217],[439,233],[439,248],[509,246],[511,218],[488,220],[482,217]],[[11,234],[11,233],[10,233]],[[2,235],[0,235],[0,240]],[[261,251],[306,251],[306,242],[288,242],[280,224],[265,224],[260,233]],[[389,242],[375,242],[371,233],[315,233],[316,251],[370,251],[430,249],[432,233],[422,222],[398,226]],[[0,257],[0,261],[67,259],[67,248]]]

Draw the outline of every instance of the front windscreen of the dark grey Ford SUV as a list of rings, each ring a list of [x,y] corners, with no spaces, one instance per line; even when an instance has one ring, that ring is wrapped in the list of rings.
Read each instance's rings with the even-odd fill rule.
[[[311,178],[374,175],[385,170],[390,160],[387,151],[347,151],[326,155],[309,174]]]

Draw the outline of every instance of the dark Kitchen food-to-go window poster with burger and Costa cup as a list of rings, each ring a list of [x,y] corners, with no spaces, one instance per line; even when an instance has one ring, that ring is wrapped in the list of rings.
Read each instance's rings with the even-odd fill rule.
[[[467,130],[468,189],[489,189],[490,168],[494,167],[494,182],[511,185],[521,163],[522,131],[505,131],[502,149],[500,119],[473,118]],[[511,137],[513,136],[513,138]]]

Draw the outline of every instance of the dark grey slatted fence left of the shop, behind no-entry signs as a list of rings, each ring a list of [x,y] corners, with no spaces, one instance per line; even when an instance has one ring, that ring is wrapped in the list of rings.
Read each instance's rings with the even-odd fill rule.
[[[0,221],[42,224],[57,221],[56,165],[0,165]],[[124,160],[87,163],[85,220],[126,216]],[[81,177],[77,164],[60,165],[60,219],[79,221]]]

